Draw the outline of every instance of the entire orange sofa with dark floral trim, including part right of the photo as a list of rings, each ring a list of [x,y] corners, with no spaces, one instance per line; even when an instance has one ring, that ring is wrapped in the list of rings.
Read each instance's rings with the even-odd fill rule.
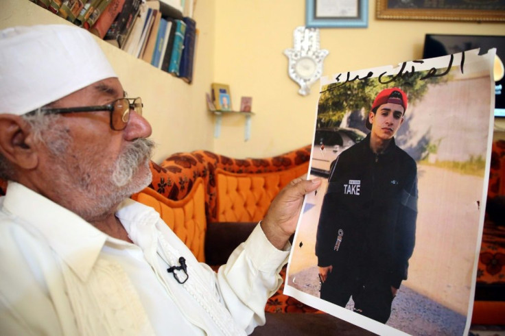
[[[199,261],[220,265],[246,239],[279,190],[307,172],[310,150],[307,145],[271,158],[244,160],[200,150],[173,154],[159,165],[150,164],[152,183],[132,198],[153,206]],[[5,186],[0,180],[0,195]],[[491,211],[504,195],[505,141],[495,141],[473,324],[505,324],[504,208],[498,203],[498,215]],[[282,288],[266,311],[320,313],[284,296]]]

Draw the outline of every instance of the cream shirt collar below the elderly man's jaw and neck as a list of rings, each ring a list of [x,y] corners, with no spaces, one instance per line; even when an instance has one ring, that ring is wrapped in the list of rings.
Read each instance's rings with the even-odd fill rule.
[[[3,208],[18,217],[22,225],[36,228],[52,250],[81,280],[89,276],[100,250],[109,237],[67,208],[10,181]]]

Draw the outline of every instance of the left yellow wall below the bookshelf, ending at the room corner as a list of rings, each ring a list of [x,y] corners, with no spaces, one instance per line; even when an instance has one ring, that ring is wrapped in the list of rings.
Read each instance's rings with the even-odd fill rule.
[[[207,112],[204,94],[214,77],[213,67],[209,67],[214,57],[214,7],[213,0],[205,0],[199,1],[196,8],[200,36],[194,69],[196,80],[191,85],[97,39],[128,95],[143,99],[143,114],[150,121],[152,138],[158,144],[153,158],[156,162],[174,152],[212,149],[213,120]],[[0,29],[40,23],[67,21],[28,0],[0,0]]]

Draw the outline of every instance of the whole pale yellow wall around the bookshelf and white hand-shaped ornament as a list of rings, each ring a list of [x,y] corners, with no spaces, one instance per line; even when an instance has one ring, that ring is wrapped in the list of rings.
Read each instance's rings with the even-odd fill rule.
[[[329,50],[325,75],[420,58],[426,33],[505,34],[505,23],[379,21],[369,1],[368,28],[320,29],[321,48]],[[194,149],[266,157],[310,143],[318,84],[307,97],[298,95],[283,55],[294,28],[305,25],[305,0],[199,0],[195,19],[200,36],[191,85],[101,41],[126,91],[143,98],[158,143],[154,161]],[[0,29],[57,22],[66,21],[28,0],[0,0]],[[211,82],[231,86],[235,109],[241,96],[253,97],[249,141],[240,115],[223,117],[220,137],[213,137],[215,119],[204,100]]]

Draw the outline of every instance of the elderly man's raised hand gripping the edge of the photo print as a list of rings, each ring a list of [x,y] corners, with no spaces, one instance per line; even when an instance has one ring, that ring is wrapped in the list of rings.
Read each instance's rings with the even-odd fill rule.
[[[287,184],[274,198],[270,208],[261,221],[266,237],[279,250],[282,250],[296,230],[296,223],[303,204],[303,197],[318,189],[320,178],[305,180],[305,175]]]

